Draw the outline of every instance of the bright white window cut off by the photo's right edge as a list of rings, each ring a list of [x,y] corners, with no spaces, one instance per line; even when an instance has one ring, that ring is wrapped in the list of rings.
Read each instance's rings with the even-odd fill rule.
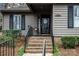
[[[74,27],[79,27],[79,6],[74,6]]]

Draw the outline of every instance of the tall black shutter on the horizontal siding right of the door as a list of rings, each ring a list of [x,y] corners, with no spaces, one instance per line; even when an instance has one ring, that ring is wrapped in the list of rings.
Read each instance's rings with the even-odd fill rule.
[[[68,28],[74,27],[74,20],[73,20],[73,5],[68,6]]]

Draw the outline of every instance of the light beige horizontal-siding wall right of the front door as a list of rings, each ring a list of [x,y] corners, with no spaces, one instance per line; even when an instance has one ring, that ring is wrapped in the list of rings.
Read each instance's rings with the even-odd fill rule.
[[[53,5],[53,35],[77,36],[79,28],[68,28],[68,5]],[[57,16],[60,15],[60,16]]]

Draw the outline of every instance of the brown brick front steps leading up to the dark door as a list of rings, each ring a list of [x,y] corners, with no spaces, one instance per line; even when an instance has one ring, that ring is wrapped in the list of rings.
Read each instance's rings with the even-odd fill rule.
[[[28,47],[26,53],[42,53],[43,41],[46,40],[46,53],[52,53],[51,37],[33,36],[28,39]]]

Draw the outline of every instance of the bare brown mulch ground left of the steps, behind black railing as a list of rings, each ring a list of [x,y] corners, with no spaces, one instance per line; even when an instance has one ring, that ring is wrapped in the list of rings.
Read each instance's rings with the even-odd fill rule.
[[[16,45],[15,45],[15,48],[14,48],[14,54],[15,54],[15,56],[21,56],[22,55],[22,53],[24,52],[20,52],[19,53],[19,50],[20,50],[20,48],[22,48],[22,47],[24,47],[24,37],[19,37],[17,40],[16,40]],[[3,49],[4,48],[4,49]],[[1,55],[3,56],[3,50],[4,50],[4,56],[7,56],[7,55],[9,55],[9,56],[11,56],[11,55],[13,55],[13,49],[12,49],[13,47],[7,47],[6,48],[6,46],[4,46],[4,47],[1,47]],[[9,51],[6,51],[6,49]],[[7,53],[7,55],[6,55],[6,53]],[[21,54],[21,55],[20,55]]]

